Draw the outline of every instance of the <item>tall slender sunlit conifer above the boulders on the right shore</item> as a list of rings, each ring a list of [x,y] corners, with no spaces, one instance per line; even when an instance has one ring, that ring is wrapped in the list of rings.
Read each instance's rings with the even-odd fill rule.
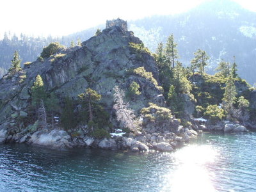
[[[224,97],[222,99],[224,107],[227,111],[228,118],[231,117],[230,115],[233,108],[233,104],[236,102],[236,95],[237,92],[234,79],[231,76],[229,76],[225,87],[225,93],[223,95]]]

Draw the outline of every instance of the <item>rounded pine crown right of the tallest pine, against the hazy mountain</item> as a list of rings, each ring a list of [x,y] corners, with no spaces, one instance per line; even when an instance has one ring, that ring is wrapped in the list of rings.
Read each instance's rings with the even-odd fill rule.
[[[205,51],[198,49],[198,51],[194,52],[195,58],[191,60],[191,67],[193,69],[193,75],[195,73],[195,69],[198,67],[200,74],[203,74],[205,71],[205,66],[208,65],[207,61],[209,60],[209,56]]]

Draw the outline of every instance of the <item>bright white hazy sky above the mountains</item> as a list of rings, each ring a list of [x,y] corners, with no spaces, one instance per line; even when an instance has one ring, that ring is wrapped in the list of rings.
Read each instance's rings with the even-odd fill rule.
[[[4,31],[36,36],[68,35],[117,17],[134,20],[186,12],[203,1],[208,0],[1,0],[0,38]],[[234,1],[256,12],[255,0]]]

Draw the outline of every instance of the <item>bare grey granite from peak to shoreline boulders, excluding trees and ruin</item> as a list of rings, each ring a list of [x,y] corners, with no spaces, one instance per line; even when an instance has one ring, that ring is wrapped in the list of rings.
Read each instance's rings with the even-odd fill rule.
[[[152,72],[154,79],[159,83],[154,58],[147,52],[140,52],[138,57],[138,54],[132,50],[131,43],[141,44],[142,42],[133,36],[132,31],[126,31],[119,26],[109,26],[99,35],[83,42],[81,46],[60,49],[44,61],[37,60],[27,65],[15,76],[8,74],[4,76],[0,80],[0,143],[39,143],[38,145],[55,146],[55,148],[76,145],[101,148],[135,148],[136,151],[137,149],[148,150],[147,146],[152,147],[157,141],[158,143],[166,141],[167,143],[162,145],[170,149],[173,148],[170,145],[172,141],[175,147],[178,142],[175,140],[176,135],[169,134],[166,138],[164,132],[159,133],[161,135],[156,133],[153,138],[144,132],[139,139],[130,135],[128,138],[100,141],[90,138],[86,135],[86,131],[80,130],[79,138],[71,138],[63,132],[60,136],[58,134],[60,131],[56,130],[45,132],[40,129],[40,121],[29,122],[31,86],[33,86],[38,74],[44,80],[47,93],[55,93],[60,99],[60,103],[65,97],[77,99],[77,94],[84,92],[86,88],[90,87],[96,90],[102,95],[100,102],[106,106],[106,111],[111,114],[111,119],[114,119],[113,122],[115,122],[115,116],[112,112],[115,85],[125,91],[133,81],[140,85],[141,94],[138,95],[136,101],[127,100],[136,115],[139,115],[141,108],[148,107],[148,102],[161,107],[165,106],[163,94],[156,83],[131,72],[135,68],[144,67],[147,72]],[[179,121],[174,120],[171,125],[174,126],[172,130],[177,130]],[[114,125],[113,129],[115,128],[117,127]],[[168,129],[169,131],[164,130],[165,133],[172,132],[171,129]],[[161,140],[157,139],[158,136]],[[184,141],[182,138],[178,138],[178,140]],[[186,140],[188,140],[188,135]],[[112,147],[106,147],[110,145],[109,142],[112,143]]]

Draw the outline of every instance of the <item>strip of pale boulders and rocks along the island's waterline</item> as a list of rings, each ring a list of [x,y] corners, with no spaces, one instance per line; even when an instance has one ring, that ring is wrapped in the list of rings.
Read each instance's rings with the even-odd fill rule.
[[[184,128],[179,126],[177,134],[173,132],[154,132],[149,134],[143,132],[138,135],[118,133],[111,138],[97,139],[88,134],[79,134],[79,136],[70,136],[67,131],[54,129],[52,131],[34,131],[28,133],[8,134],[7,129],[0,126],[0,143],[27,143],[29,145],[38,145],[40,147],[52,148],[54,150],[66,150],[68,148],[102,148],[104,150],[130,150],[132,152],[147,152],[157,150],[160,152],[172,152],[175,148],[182,147],[188,143],[191,138],[196,138],[198,133],[203,131],[223,131],[223,132],[246,132],[243,125],[232,124],[232,122],[221,122],[218,125],[193,125],[196,131],[191,127]]]

